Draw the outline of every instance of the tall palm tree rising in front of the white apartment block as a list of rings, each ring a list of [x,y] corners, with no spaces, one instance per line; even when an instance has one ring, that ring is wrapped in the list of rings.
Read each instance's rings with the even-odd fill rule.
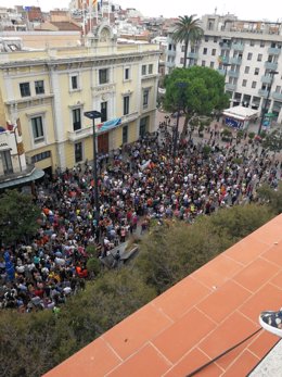
[[[197,42],[204,34],[204,30],[200,26],[200,18],[194,18],[196,15],[179,16],[176,23],[176,28],[172,34],[172,39],[176,42],[184,42],[184,63],[183,68],[187,66],[187,54],[189,42],[194,45]]]

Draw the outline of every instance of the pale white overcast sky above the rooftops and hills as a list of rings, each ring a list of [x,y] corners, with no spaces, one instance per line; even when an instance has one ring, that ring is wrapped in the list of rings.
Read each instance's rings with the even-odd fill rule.
[[[100,1],[100,0],[98,0]],[[179,15],[196,14],[201,17],[204,14],[230,14],[236,15],[241,20],[272,21],[282,22],[282,4],[278,0],[113,0],[123,9],[134,8],[144,16],[178,17]],[[0,0],[0,7],[35,5],[42,11],[55,8],[68,8],[69,0]]]

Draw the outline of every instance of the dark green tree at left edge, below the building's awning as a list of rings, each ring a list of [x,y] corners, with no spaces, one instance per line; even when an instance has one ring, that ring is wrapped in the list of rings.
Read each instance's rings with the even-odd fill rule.
[[[4,243],[27,239],[38,229],[39,208],[33,197],[17,190],[5,191],[0,197],[0,238]]]

